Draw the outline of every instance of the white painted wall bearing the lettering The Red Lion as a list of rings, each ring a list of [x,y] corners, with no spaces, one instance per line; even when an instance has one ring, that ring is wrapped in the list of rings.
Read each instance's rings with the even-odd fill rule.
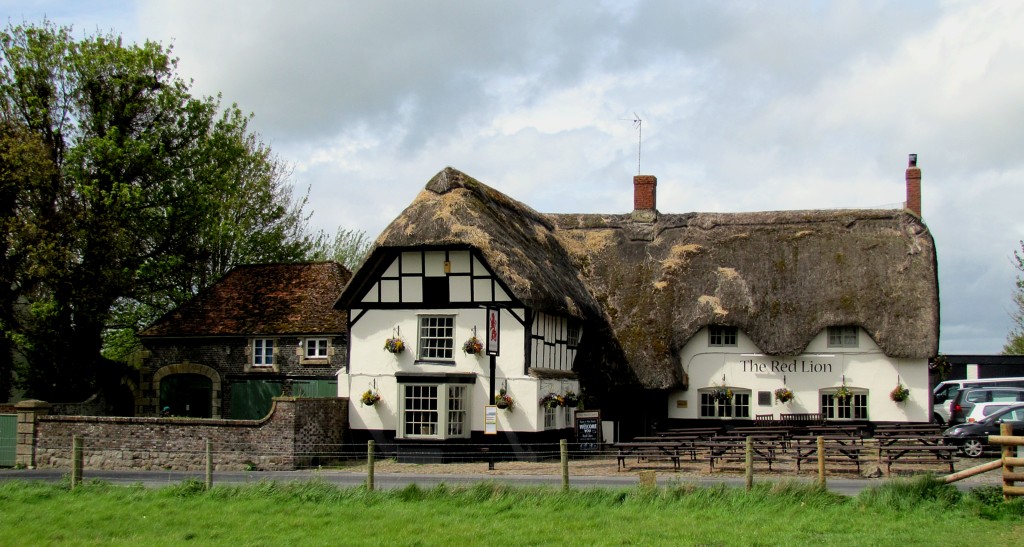
[[[863,330],[858,334],[858,346],[827,347],[827,334],[822,331],[802,354],[775,357],[762,355],[742,331],[735,347],[710,347],[708,329],[703,329],[680,354],[683,370],[689,375],[689,389],[669,395],[669,417],[699,418],[698,390],[721,384],[723,376],[727,385],[752,391],[751,419],[758,414],[777,418],[783,413],[817,413],[818,389],[839,387],[845,375],[847,386],[868,390],[870,421],[929,421],[928,360],[888,357]],[[897,377],[910,390],[910,397],[903,403],[889,398]],[[774,398],[775,389],[783,385],[796,395],[784,405]],[[758,391],[773,393],[770,406],[758,405]]]

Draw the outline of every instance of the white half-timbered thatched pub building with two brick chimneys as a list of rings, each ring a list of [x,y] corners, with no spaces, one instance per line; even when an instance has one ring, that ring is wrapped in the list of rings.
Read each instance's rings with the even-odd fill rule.
[[[437,173],[337,304],[352,432],[544,440],[565,436],[574,395],[606,437],[782,414],[929,420],[939,300],[915,158],[893,210],[665,214],[656,184],[634,177],[631,213],[544,214]],[[490,424],[503,391],[514,405]]]

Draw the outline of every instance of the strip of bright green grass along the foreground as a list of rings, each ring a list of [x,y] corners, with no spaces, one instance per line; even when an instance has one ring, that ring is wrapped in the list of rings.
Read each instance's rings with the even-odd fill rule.
[[[323,481],[159,490],[0,482],[3,545],[1015,545],[1024,500],[929,477],[856,498],[796,483],[367,492]]]

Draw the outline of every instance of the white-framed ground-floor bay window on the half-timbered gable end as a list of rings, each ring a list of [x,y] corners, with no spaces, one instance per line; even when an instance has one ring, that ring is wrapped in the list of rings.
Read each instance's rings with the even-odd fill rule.
[[[401,384],[402,438],[468,437],[468,384]]]

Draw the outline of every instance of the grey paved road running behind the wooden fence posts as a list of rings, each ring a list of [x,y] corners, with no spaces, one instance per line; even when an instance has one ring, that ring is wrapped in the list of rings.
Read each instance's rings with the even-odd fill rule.
[[[42,480],[55,482],[67,476],[69,472],[63,469],[0,469],[0,480]],[[86,469],[82,473],[85,480],[103,480],[113,485],[136,485],[141,483],[150,488],[167,487],[177,485],[188,478],[205,480],[202,471],[105,471]],[[216,471],[213,474],[214,485],[241,485],[259,482],[261,480],[311,480],[322,479],[339,487],[358,487],[366,485],[367,475],[364,472],[354,471],[334,471],[334,470],[301,470],[301,471]],[[993,485],[1000,483],[995,479]],[[758,479],[755,477],[755,480]],[[801,477],[796,480],[811,482],[812,479]],[[828,480],[828,490],[846,496],[856,496],[860,491],[868,487],[883,485],[887,478],[831,478]],[[440,474],[440,473],[376,473],[374,475],[374,486],[378,489],[399,489],[409,485],[417,485],[424,488],[434,487],[439,483],[458,485],[493,481],[506,485],[518,486],[539,486],[548,485],[552,487],[561,486],[559,475],[528,475],[528,474]],[[699,477],[680,478],[672,474],[665,473],[657,476],[657,483],[660,487],[668,487],[680,481],[687,483],[698,483],[701,486],[728,485],[742,488],[743,477]],[[638,475],[635,473],[624,473],[615,476],[570,476],[569,485],[575,489],[587,488],[631,488],[639,483]],[[988,482],[985,482],[986,485]],[[979,483],[956,482],[956,487],[963,491],[977,488]]]

